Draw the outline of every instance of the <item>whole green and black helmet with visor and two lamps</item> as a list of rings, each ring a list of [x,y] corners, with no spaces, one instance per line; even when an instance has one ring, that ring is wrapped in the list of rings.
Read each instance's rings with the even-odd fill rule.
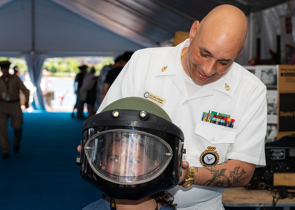
[[[139,200],[177,184],[184,137],[157,104],[119,99],[82,132],[80,176],[110,198]]]

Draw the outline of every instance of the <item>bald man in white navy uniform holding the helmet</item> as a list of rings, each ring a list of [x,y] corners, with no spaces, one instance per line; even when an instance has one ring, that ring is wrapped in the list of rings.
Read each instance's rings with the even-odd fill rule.
[[[176,47],[135,52],[99,107],[143,97],[181,128],[183,171],[170,190],[178,209],[224,209],[224,189],[247,185],[265,166],[266,86],[234,62],[247,29],[240,9],[216,7]]]

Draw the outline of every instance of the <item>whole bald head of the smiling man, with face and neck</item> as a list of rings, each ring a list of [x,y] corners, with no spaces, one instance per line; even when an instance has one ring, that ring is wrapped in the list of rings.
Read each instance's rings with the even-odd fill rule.
[[[216,7],[191,26],[189,48],[182,51],[183,70],[199,85],[217,81],[242,51],[247,31],[247,18],[240,9],[226,4]]]

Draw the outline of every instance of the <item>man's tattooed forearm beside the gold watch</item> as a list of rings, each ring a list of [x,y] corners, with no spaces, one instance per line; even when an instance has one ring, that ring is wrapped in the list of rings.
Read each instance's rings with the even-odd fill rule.
[[[216,166],[194,167],[194,184],[216,188],[243,187],[251,180],[255,165],[229,160]]]

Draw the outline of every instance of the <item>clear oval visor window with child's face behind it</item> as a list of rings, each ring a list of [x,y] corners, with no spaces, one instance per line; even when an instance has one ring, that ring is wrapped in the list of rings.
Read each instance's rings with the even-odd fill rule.
[[[102,131],[91,136],[84,151],[96,174],[125,185],[155,179],[173,156],[173,150],[163,139],[127,129]]]

